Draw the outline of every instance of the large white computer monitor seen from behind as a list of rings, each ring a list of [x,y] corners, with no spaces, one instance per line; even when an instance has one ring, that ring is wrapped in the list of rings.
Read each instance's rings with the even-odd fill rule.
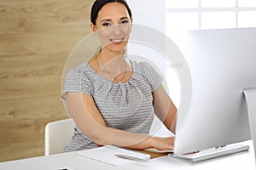
[[[256,28],[189,31],[184,47],[192,100],[189,111],[177,113],[174,152],[252,139],[248,111],[254,114],[250,121],[255,137]],[[251,89],[247,91],[250,99],[245,89]]]

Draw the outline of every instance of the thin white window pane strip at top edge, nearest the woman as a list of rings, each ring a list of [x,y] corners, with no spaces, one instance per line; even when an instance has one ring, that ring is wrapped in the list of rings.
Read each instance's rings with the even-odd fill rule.
[[[198,0],[166,0],[167,8],[195,8]]]

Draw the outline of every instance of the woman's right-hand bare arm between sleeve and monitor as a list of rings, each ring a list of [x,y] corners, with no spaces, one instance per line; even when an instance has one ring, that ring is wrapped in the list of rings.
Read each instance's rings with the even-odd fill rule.
[[[156,89],[153,97],[156,116],[160,118],[160,121],[163,122],[172,133],[175,133],[177,108],[173,104],[172,99],[170,99],[162,85]]]

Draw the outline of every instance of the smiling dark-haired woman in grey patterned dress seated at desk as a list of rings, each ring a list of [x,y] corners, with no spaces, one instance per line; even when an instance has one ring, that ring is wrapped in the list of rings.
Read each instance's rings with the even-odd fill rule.
[[[62,96],[78,127],[65,151],[107,144],[172,150],[174,137],[148,135],[154,114],[174,133],[177,109],[154,68],[125,56],[132,27],[128,4],[96,0],[90,20],[102,48],[67,74]]]

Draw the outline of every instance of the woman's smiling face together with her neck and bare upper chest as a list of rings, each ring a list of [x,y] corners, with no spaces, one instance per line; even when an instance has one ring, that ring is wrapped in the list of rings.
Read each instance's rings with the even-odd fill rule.
[[[132,24],[127,7],[123,3],[106,3],[98,11],[96,21],[90,23],[92,31],[102,42],[102,48],[89,63],[103,77],[114,82],[126,82],[131,77],[131,64],[125,59]]]

